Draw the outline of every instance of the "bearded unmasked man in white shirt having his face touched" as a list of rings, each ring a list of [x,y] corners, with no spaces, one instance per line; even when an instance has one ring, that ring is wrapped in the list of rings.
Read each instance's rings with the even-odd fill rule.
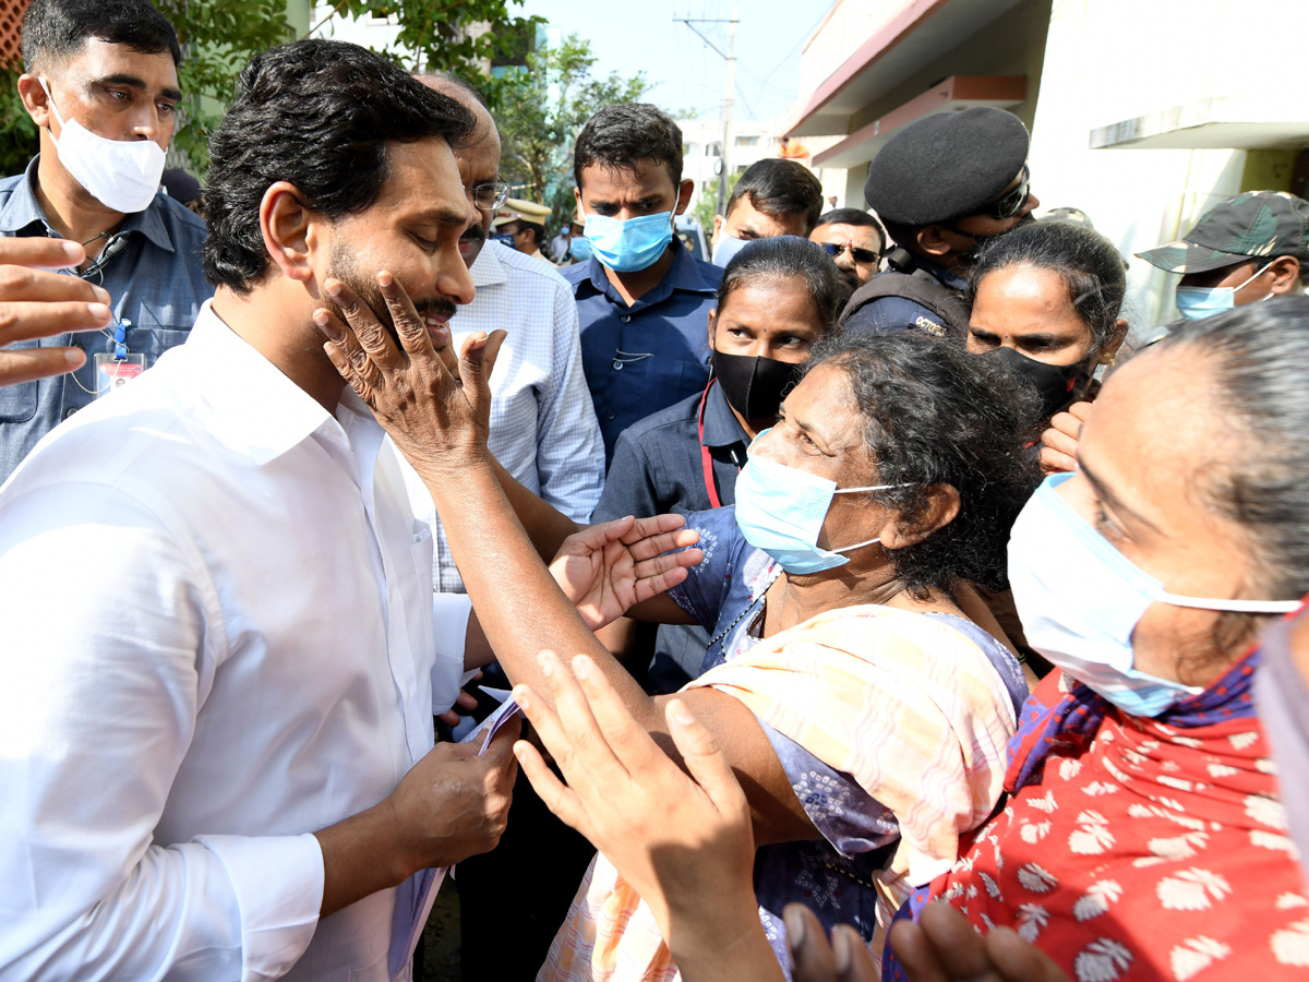
[[[473,124],[353,45],[258,55],[212,304],[0,488],[0,979],[407,979],[424,871],[499,839],[516,728],[432,749],[467,601],[312,319],[403,284],[448,343]]]

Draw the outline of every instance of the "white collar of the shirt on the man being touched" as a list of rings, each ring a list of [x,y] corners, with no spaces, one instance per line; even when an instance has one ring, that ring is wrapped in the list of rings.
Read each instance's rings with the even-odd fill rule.
[[[209,405],[212,428],[223,441],[247,452],[260,467],[322,427],[327,428],[325,436],[330,443],[344,444],[350,452],[350,441],[336,419],[228,327],[211,302],[207,300],[200,308],[185,348],[200,365],[198,389]],[[347,393],[353,395],[348,389]],[[342,403],[357,412],[346,394]]]

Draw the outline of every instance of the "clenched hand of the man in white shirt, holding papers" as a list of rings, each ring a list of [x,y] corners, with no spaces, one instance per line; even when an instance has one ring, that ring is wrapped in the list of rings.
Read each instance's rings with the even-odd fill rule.
[[[454,865],[495,848],[509,818],[520,729],[507,723],[480,757],[480,741],[437,744],[404,775],[389,803],[406,868]]]

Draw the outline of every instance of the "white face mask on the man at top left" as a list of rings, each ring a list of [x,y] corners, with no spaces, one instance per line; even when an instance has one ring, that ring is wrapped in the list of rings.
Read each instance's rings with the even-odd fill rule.
[[[145,211],[160,190],[164,177],[164,151],[154,140],[107,140],[97,136],[76,119],[64,119],[55,105],[46,80],[41,79],[50,109],[62,132],[55,140],[59,162],[106,208],[126,213]]]

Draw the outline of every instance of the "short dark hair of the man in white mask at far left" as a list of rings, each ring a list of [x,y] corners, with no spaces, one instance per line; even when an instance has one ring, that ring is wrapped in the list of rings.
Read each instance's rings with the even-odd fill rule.
[[[35,72],[46,59],[76,55],[92,38],[143,55],[168,51],[173,64],[182,63],[177,31],[145,0],[31,0],[22,14],[22,67]]]

